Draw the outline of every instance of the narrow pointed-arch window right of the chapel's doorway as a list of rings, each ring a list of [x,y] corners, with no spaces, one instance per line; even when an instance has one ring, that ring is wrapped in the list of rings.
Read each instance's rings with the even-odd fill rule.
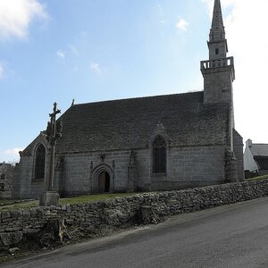
[[[166,172],[166,142],[159,135],[153,142],[153,172]]]

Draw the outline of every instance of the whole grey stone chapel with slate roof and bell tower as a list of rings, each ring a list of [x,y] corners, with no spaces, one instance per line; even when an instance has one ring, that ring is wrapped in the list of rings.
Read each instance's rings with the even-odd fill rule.
[[[227,56],[220,0],[207,45],[204,91],[71,105],[63,113],[54,165],[61,197],[244,180],[243,141],[234,129],[234,60]],[[46,191],[49,154],[41,131],[20,153],[14,197]]]

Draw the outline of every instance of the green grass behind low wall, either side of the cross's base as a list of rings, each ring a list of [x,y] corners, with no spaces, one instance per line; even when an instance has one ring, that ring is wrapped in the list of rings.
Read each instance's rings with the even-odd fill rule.
[[[112,199],[115,197],[128,197],[133,195],[133,193],[123,193],[123,194],[102,194],[102,195],[88,195],[81,197],[69,197],[69,198],[60,198],[60,205],[75,205],[81,203],[93,203],[99,200]],[[20,203],[13,203],[16,200],[0,200],[0,212],[7,210],[16,210],[16,209],[28,209],[31,207],[38,207],[38,200],[23,201]],[[11,204],[13,203],[13,204]]]

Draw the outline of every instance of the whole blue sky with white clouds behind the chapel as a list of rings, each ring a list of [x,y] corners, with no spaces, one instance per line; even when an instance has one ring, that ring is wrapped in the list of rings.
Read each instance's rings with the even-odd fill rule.
[[[255,1],[261,12],[265,1]],[[242,2],[222,0],[236,61],[236,126],[244,139],[268,143],[268,85],[259,73],[260,64],[266,68],[264,18],[252,1]],[[46,129],[54,101],[64,112],[73,98],[202,90],[199,62],[208,59],[212,7],[212,0],[0,0],[0,162],[18,160],[18,151]],[[261,44],[245,46],[250,27]]]

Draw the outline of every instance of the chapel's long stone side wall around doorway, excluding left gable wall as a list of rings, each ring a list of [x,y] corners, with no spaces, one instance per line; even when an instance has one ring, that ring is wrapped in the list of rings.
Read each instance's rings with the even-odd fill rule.
[[[224,180],[224,148],[171,147],[167,153],[167,172],[154,174],[149,148],[135,150],[137,158],[136,190],[171,190],[222,183]],[[128,191],[130,151],[65,155],[63,163],[63,196],[97,192],[97,169],[110,173],[115,192]],[[57,183],[60,178],[56,178]]]

